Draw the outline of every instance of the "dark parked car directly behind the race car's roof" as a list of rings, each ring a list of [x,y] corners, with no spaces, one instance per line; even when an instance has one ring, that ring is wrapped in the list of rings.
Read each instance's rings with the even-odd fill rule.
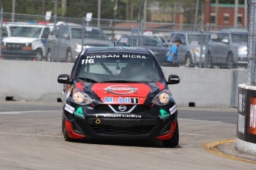
[[[122,35],[119,38],[119,41],[116,42],[116,46],[121,47],[145,47],[154,52],[157,57],[157,60],[160,62],[161,66],[167,66],[167,57],[168,57],[168,47],[164,47],[162,41],[159,38],[154,36],[140,36],[140,44],[138,44],[137,35]]]

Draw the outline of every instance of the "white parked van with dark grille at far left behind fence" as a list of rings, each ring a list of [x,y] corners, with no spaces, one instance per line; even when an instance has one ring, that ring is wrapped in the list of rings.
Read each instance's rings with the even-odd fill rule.
[[[7,24],[10,37],[2,40],[4,59],[42,61],[46,56],[45,45],[50,35],[50,27],[45,24]]]

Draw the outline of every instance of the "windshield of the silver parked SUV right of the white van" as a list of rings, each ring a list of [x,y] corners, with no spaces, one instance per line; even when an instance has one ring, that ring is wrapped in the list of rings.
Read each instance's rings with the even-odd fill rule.
[[[81,39],[82,38],[82,28],[71,28],[72,38]],[[85,38],[104,40],[108,41],[107,35],[102,30],[93,29],[91,27],[85,28]]]

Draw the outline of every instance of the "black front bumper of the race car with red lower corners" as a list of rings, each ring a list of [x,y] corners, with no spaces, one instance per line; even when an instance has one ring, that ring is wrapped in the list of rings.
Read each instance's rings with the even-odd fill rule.
[[[91,106],[74,106],[74,108],[73,114],[65,110],[63,114],[65,121],[70,123],[70,134],[75,135],[73,138],[76,139],[85,137],[88,139],[167,140],[171,138],[177,122],[177,111],[172,115],[160,116],[159,110],[168,111],[171,105],[161,108],[151,106],[146,112],[136,113],[102,112],[99,107],[91,109]],[[76,114],[77,110],[80,115]]]

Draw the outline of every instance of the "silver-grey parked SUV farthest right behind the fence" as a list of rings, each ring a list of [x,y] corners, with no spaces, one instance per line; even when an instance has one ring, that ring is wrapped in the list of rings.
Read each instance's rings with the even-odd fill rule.
[[[229,29],[211,33],[208,47],[209,67],[246,67],[247,38],[247,30]]]

